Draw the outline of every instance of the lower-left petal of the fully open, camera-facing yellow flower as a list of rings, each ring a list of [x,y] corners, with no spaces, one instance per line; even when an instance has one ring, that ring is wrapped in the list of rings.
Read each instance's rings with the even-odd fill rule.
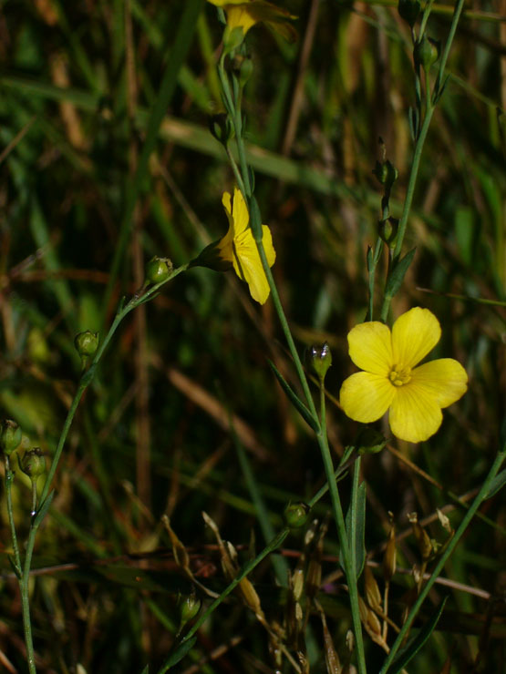
[[[339,402],[346,416],[368,424],[387,412],[396,393],[396,387],[386,377],[356,373],[343,382]]]

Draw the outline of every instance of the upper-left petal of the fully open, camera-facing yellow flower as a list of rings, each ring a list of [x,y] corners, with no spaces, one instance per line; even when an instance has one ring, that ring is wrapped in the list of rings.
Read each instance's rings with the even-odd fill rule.
[[[390,330],[378,321],[360,323],[348,332],[351,360],[368,373],[388,376],[392,362]]]

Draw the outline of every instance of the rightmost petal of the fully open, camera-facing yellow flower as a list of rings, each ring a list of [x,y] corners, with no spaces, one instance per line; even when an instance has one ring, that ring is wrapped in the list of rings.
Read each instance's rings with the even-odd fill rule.
[[[468,374],[453,358],[439,358],[415,368],[408,385],[413,384],[432,396],[439,407],[448,407],[466,393]]]

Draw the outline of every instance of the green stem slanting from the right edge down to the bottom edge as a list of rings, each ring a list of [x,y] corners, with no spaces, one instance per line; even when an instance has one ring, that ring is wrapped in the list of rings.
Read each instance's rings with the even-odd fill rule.
[[[494,463],[491,466],[491,470],[489,472],[489,475],[485,478],[485,482],[481,485],[480,491],[478,495],[476,495],[476,498],[474,499],[472,505],[470,506],[470,509],[466,513],[466,515],[463,517],[462,521],[460,522],[460,526],[455,532],[455,536],[451,539],[449,542],[449,546],[445,549],[443,555],[439,558],[439,562],[432,571],[432,574],[429,577],[429,580],[427,581],[427,584],[423,589],[421,590],[420,594],[418,595],[417,601],[413,604],[411,610],[409,611],[408,618],[406,618],[406,621],[404,625],[402,626],[400,632],[398,633],[398,637],[394,641],[392,648],[390,649],[390,652],[388,653],[387,659],[385,660],[383,667],[380,669],[379,674],[387,674],[387,670],[392,664],[393,659],[395,658],[396,653],[398,652],[398,649],[402,646],[403,640],[408,634],[408,630],[411,627],[413,620],[416,618],[419,609],[421,608],[421,605],[423,604],[425,597],[429,594],[430,588],[434,585],[436,580],[438,579],[441,571],[443,570],[443,567],[445,566],[447,560],[449,559],[451,553],[457,546],[457,544],[460,541],[460,538],[463,536],[464,532],[466,531],[467,527],[470,524],[470,521],[472,517],[475,515],[477,512],[478,508],[480,507],[481,503],[487,498],[487,495],[489,493],[489,489],[491,487],[491,482],[494,479],[494,477],[497,475],[499,472],[499,469],[501,468],[501,465],[503,461],[506,459],[506,444],[502,447],[501,451],[498,452]]]

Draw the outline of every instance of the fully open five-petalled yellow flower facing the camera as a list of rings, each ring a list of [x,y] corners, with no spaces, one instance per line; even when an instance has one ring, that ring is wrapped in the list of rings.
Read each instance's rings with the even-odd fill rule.
[[[435,434],[441,408],[466,393],[468,375],[453,358],[441,358],[415,367],[436,346],[439,321],[428,309],[403,313],[392,332],[383,323],[356,325],[348,333],[351,360],[365,372],[352,374],[341,387],[345,414],[363,424],[389,410],[390,429],[410,443]]]

